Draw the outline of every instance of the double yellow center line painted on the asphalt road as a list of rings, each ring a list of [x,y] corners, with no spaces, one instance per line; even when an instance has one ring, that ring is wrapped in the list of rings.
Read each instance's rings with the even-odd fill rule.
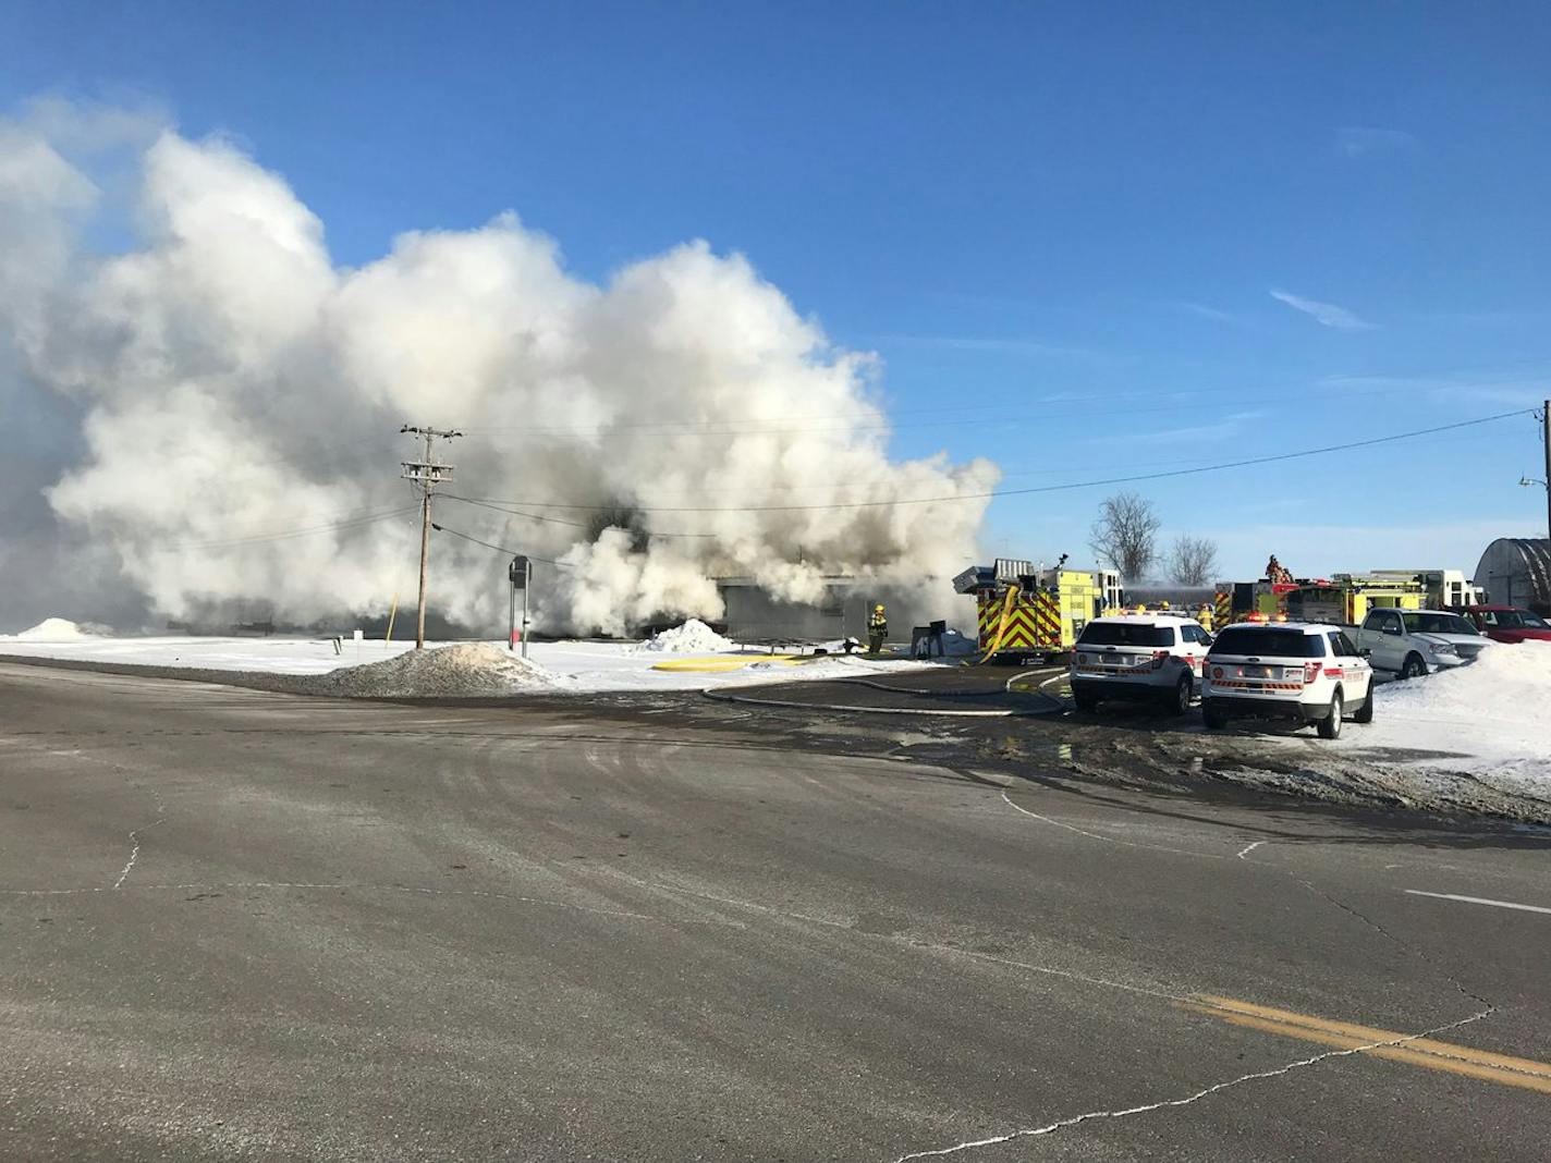
[[[1320,1045],[1331,1045],[1340,1050],[1360,1050],[1374,1058],[1387,1058],[1428,1070],[1444,1070],[1453,1075],[1551,1095],[1551,1064],[1548,1062],[1495,1054],[1487,1050],[1473,1050],[1432,1037],[1410,1037],[1396,1030],[1332,1022],[1292,1009],[1273,1009],[1252,1002],[1239,1002],[1231,997],[1205,996],[1199,1002],[1183,1002],[1180,1005],[1197,1014],[1216,1017],[1250,1030],[1298,1037],[1304,1042],[1318,1042]]]

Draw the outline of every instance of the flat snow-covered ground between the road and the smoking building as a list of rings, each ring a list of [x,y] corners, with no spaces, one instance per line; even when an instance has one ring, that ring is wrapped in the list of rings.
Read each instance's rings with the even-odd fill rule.
[[[451,644],[428,642],[428,647]],[[506,644],[490,644],[503,654]],[[413,642],[355,642],[344,637],[92,637],[34,640],[0,636],[0,654],[78,659],[85,662],[195,670],[244,670],[268,675],[326,675],[340,667],[394,659],[414,650]],[[529,657],[555,692],[704,690],[707,687],[786,682],[794,679],[855,678],[917,670],[920,662],[862,657],[816,657],[799,662],[763,650],[734,647],[706,656],[717,670],[698,670],[693,654],[647,651],[631,642],[530,642]],[[658,665],[689,667],[658,670]],[[940,665],[940,664],[931,664]]]

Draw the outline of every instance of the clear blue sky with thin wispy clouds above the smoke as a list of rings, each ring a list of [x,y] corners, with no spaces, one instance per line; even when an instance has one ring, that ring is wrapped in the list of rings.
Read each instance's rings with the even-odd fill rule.
[[[228,132],[341,264],[506,208],[594,279],[743,251],[883,355],[898,454],[1017,488],[1551,394],[1548,48],[1543,3],[12,2],[0,102]],[[1470,571],[1543,532],[1540,464],[1525,417],[1137,487],[1236,577]],[[988,547],[1084,558],[1103,496],[999,499]]]

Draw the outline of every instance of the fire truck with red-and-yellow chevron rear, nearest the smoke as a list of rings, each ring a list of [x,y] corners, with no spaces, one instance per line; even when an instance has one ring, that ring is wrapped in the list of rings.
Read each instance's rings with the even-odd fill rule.
[[[1016,558],[971,566],[954,591],[976,599],[982,662],[1050,659],[1072,648],[1092,619],[1121,603],[1120,575],[1109,569],[1050,568]]]

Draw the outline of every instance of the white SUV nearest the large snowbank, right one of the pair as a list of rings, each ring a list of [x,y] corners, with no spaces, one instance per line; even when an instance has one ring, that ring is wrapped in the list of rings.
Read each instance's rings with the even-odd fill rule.
[[[1289,718],[1334,740],[1352,707],[1354,721],[1373,723],[1373,667],[1337,626],[1225,626],[1207,653],[1200,707],[1213,730],[1230,718]]]

